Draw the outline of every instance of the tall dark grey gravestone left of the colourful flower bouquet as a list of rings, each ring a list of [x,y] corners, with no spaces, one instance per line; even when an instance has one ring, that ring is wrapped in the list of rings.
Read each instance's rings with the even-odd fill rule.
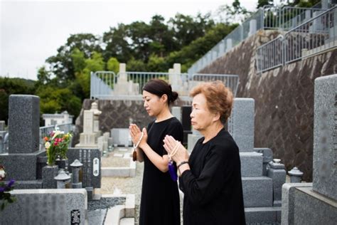
[[[37,179],[40,98],[34,95],[9,96],[9,152],[0,154],[6,179],[16,179],[16,188],[41,188]]]

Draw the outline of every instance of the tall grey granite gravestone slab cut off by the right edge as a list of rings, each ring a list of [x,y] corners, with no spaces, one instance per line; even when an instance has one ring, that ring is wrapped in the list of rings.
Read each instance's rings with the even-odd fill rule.
[[[337,75],[315,80],[313,189],[337,200]]]

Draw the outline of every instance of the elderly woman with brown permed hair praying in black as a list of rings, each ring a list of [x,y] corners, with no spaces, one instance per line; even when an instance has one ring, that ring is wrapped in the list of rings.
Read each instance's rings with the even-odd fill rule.
[[[232,110],[232,93],[216,81],[198,85],[191,96],[191,124],[203,135],[191,157],[173,137],[164,138],[180,174],[183,224],[245,224],[239,149],[224,128]]]

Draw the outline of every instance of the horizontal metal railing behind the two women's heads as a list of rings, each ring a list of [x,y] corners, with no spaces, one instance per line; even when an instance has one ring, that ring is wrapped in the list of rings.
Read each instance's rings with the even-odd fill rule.
[[[91,73],[91,78],[90,98],[114,100],[141,100],[144,85],[154,78],[168,81],[182,99],[189,98],[191,88],[200,82],[221,80],[234,96],[239,85],[239,76],[228,74],[124,72],[116,76],[114,73],[98,71]],[[102,92],[100,87],[108,87],[109,90]]]

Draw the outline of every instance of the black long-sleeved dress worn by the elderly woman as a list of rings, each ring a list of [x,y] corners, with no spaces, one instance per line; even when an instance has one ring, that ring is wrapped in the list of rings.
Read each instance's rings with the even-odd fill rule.
[[[245,225],[239,149],[223,130],[208,142],[200,138],[181,174],[183,224]]]

